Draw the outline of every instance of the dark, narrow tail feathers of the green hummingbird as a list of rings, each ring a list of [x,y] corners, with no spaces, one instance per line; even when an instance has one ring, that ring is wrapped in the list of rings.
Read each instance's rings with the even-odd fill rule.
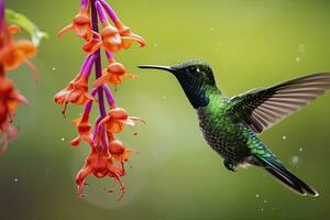
[[[312,196],[317,197],[318,193],[307,184],[305,184],[301,179],[296,177],[293,173],[284,167],[284,165],[276,160],[275,157],[257,157],[263,165],[263,167],[273,176],[276,177],[277,180],[285,184],[289,189],[302,195],[302,196]]]

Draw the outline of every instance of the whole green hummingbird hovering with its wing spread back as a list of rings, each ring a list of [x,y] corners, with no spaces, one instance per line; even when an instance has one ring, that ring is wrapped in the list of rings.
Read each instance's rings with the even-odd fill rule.
[[[197,112],[205,140],[224,158],[229,170],[255,165],[300,195],[318,196],[285,168],[257,134],[324,94],[330,88],[330,73],[311,74],[229,98],[218,89],[211,67],[204,62],[139,67],[167,70],[177,78]]]

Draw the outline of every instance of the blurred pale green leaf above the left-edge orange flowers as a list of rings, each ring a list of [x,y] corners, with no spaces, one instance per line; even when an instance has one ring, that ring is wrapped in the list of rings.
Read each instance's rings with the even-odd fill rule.
[[[11,9],[6,9],[6,20],[9,24],[15,24],[25,30],[32,38],[32,42],[37,46],[42,38],[47,38],[48,34],[42,32],[30,19],[24,14],[16,13]]]

